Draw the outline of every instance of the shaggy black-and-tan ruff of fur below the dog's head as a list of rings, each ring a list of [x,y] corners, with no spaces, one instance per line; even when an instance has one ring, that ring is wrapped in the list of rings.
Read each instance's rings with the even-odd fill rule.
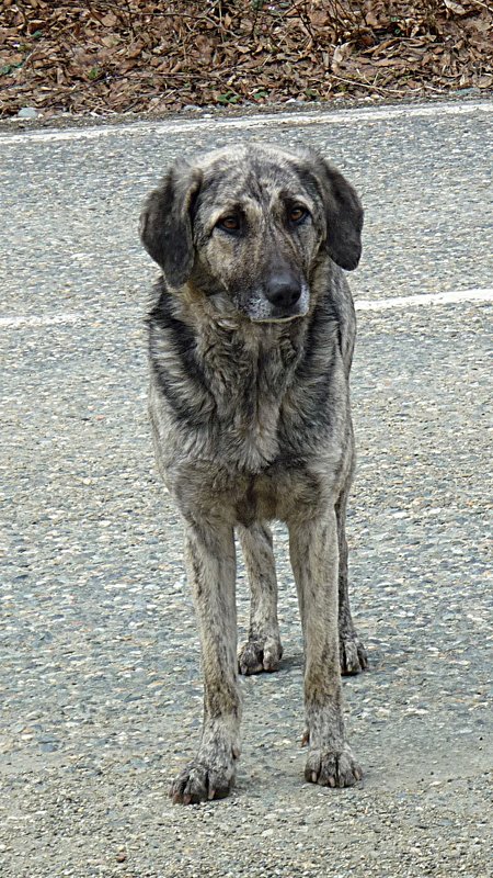
[[[161,288],[149,320],[154,373],[205,458],[254,473],[282,452],[282,424],[303,417],[334,347],[336,324],[322,312],[254,324]]]

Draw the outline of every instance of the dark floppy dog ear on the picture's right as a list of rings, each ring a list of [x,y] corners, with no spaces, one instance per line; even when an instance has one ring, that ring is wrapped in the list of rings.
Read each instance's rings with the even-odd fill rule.
[[[337,266],[352,271],[362,256],[363,207],[347,180],[318,153],[314,158],[317,182],[322,190],[326,218],[326,248]]]

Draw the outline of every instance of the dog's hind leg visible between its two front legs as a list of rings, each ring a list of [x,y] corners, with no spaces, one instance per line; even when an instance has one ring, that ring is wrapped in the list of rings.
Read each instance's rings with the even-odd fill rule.
[[[250,583],[250,630],[238,653],[240,674],[277,671],[283,655],[277,621],[277,582],[272,534],[266,525],[238,527]]]

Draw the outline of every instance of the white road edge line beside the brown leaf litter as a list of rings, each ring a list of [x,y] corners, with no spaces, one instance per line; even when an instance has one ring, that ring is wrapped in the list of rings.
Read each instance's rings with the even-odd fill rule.
[[[466,101],[463,103],[425,103],[405,104],[400,106],[368,108],[367,110],[354,109],[343,111],[320,111],[312,110],[309,113],[290,113],[280,111],[279,113],[268,113],[262,115],[246,116],[242,119],[183,119],[180,122],[167,122],[165,120],[149,120],[146,122],[125,123],[123,125],[100,125],[88,128],[65,128],[46,131],[25,131],[22,134],[1,134],[0,143],[2,149],[15,144],[36,144],[49,143],[54,140],[84,140],[98,137],[111,137],[112,135],[136,135],[147,136],[152,133],[157,136],[168,134],[186,134],[200,131],[234,131],[263,127],[307,127],[310,125],[326,124],[347,124],[354,122],[372,123],[385,120],[393,120],[409,116],[440,116],[440,115],[467,115],[470,113],[491,113],[493,112],[493,101]]]

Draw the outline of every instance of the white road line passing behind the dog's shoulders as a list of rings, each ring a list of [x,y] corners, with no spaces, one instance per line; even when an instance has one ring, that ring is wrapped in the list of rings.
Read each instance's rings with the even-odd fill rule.
[[[388,308],[423,307],[423,305],[452,305],[461,302],[493,302],[493,286],[472,290],[451,290],[448,293],[423,293],[422,295],[400,295],[393,299],[359,299],[355,302],[356,311],[387,311]],[[28,314],[0,317],[0,329],[36,328],[57,324],[74,324],[87,318],[77,314],[46,314],[32,317]],[[102,324],[103,325],[103,324]]]

